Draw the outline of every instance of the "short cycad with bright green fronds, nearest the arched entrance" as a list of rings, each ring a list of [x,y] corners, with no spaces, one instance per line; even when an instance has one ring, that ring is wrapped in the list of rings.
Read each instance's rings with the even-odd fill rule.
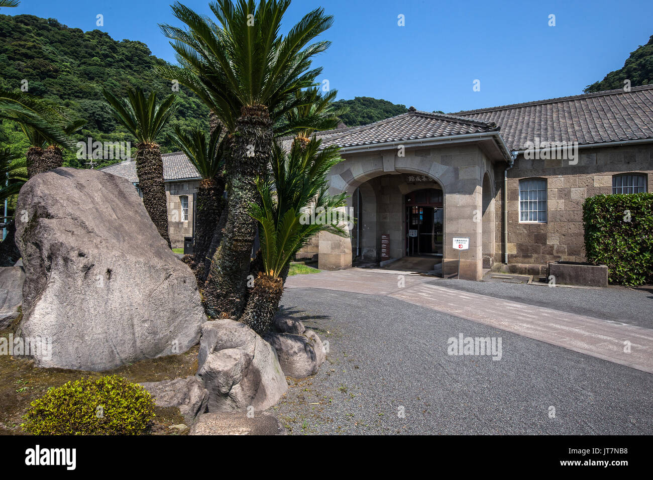
[[[342,161],[338,148],[320,150],[321,140],[295,142],[290,153],[276,144],[270,177],[257,180],[261,204],[249,214],[259,222],[263,270],[254,279],[242,321],[257,333],[266,332],[279,308],[291,259],[321,231],[348,236],[353,219],[345,210],[345,193],[328,193],[327,174]]]

